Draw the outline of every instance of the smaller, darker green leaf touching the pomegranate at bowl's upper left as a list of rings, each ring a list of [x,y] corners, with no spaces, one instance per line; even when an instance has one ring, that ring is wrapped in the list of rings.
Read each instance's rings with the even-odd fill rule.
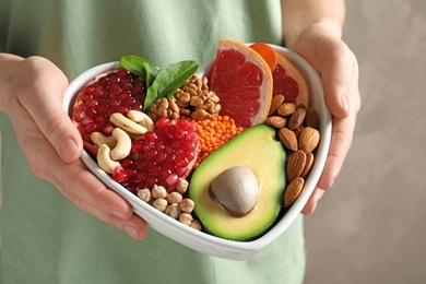
[[[152,85],[159,72],[149,60],[133,55],[122,56],[120,66],[140,76],[145,82],[146,88]]]

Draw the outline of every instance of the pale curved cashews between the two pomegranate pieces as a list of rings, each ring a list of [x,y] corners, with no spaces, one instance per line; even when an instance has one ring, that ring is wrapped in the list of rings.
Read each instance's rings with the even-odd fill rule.
[[[113,174],[116,167],[120,167],[118,161],[130,154],[132,142],[131,137],[138,138],[154,130],[154,121],[144,113],[130,110],[127,117],[120,113],[110,116],[109,121],[116,126],[110,137],[100,132],[93,132],[92,142],[98,146],[97,164],[108,174]]]

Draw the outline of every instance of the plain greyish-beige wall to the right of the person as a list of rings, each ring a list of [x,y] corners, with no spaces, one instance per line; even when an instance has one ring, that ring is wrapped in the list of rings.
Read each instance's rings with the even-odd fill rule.
[[[426,283],[426,1],[346,5],[363,106],[341,175],[305,218],[305,283]]]

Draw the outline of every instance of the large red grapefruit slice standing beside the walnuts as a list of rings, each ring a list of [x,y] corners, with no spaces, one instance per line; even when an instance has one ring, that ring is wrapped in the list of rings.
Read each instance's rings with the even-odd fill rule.
[[[268,117],[272,73],[267,61],[250,47],[221,39],[208,78],[221,99],[221,116],[229,116],[242,128],[260,125]]]

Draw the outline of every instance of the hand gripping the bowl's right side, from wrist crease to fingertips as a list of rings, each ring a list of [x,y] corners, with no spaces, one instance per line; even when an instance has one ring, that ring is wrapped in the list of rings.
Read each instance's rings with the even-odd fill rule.
[[[311,214],[322,194],[338,177],[351,147],[356,115],[360,107],[358,64],[354,54],[335,33],[332,23],[309,25],[294,42],[293,49],[320,73],[327,107],[332,115],[332,135],[326,167],[301,213]]]

